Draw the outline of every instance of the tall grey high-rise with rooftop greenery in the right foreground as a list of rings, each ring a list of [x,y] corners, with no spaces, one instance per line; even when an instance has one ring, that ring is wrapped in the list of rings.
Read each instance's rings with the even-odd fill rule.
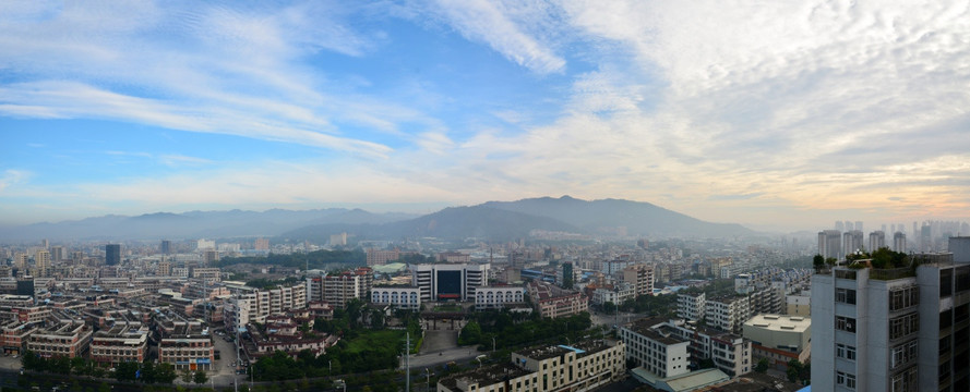
[[[813,389],[970,391],[970,252],[913,258],[812,278]]]

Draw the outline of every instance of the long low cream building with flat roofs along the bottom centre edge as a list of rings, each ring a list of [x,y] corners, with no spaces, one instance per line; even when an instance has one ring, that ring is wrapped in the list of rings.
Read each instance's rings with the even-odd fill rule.
[[[439,392],[591,391],[625,376],[625,344],[586,341],[527,348],[512,362],[442,378]]]

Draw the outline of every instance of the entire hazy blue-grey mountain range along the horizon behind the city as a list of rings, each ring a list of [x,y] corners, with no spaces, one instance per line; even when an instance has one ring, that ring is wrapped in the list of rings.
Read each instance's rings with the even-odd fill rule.
[[[631,236],[652,237],[754,234],[740,224],[706,222],[649,203],[582,200],[563,196],[488,201],[477,206],[450,207],[426,216],[372,213],[344,208],[105,216],[0,230],[0,243],[39,238],[118,241],[243,236],[278,236],[325,243],[330,235],[343,232],[360,240],[478,237],[505,241],[527,237],[534,230],[588,235],[625,231]]]

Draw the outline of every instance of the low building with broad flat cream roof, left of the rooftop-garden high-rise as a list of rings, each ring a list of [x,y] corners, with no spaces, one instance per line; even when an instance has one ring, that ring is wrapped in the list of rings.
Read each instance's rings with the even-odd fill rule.
[[[812,354],[812,319],[802,316],[758,315],[744,322],[744,338],[752,341],[754,360],[768,359],[785,370],[792,359],[807,363]]]

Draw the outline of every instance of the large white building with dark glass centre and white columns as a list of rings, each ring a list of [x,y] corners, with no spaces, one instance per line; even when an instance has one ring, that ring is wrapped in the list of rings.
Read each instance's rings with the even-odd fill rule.
[[[488,283],[489,264],[433,264],[411,266],[411,282],[421,289],[422,302],[475,301],[475,290]]]

